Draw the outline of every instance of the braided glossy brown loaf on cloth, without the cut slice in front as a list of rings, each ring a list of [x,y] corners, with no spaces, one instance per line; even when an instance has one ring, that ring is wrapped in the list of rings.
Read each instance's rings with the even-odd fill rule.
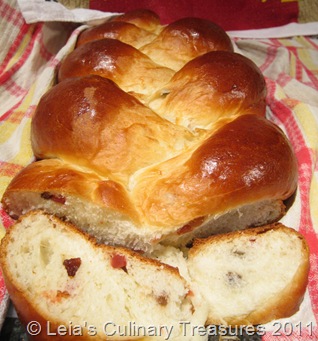
[[[11,216],[44,209],[149,251],[284,214],[295,156],[265,118],[260,70],[217,25],[115,17],[79,36],[57,80],[32,120],[42,160],[3,196]]]

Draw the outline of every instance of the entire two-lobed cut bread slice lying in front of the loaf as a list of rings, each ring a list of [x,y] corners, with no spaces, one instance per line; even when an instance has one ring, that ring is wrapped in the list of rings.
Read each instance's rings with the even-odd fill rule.
[[[0,264],[21,321],[41,324],[39,340],[60,326],[74,336],[75,325],[92,340],[202,340],[204,326],[296,313],[309,250],[300,233],[278,223],[197,239],[184,253],[160,246],[141,254],[33,211],[8,230]]]

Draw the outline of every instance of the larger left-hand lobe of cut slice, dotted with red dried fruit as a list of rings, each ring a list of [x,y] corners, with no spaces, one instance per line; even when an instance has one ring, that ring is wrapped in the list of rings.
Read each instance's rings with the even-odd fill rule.
[[[97,244],[41,211],[9,229],[0,263],[21,321],[41,324],[36,340],[59,339],[61,326],[66,340],[184,340],[180,321],[206,320],[176,268]]]

